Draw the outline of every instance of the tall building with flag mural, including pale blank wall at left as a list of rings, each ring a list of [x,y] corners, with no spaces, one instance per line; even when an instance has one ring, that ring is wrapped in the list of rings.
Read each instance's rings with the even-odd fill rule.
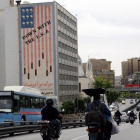
[[[18,7],[6,2],[0,11],[1,90],[23,85],[60,102],[77,98],[77,19],[57,2]]]

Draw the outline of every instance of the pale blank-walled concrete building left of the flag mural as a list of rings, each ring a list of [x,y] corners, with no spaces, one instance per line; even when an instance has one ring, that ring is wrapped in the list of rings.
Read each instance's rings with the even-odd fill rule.
[[[20,85],[18,9],[13,6],[14,0],[0,4],[0,90]]]

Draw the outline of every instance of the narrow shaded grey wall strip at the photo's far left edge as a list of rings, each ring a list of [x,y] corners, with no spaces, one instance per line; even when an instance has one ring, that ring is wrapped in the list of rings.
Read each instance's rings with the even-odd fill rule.
[[[0,10],[0,90],[6,84],[5,78],[5,22],[4,10]]]

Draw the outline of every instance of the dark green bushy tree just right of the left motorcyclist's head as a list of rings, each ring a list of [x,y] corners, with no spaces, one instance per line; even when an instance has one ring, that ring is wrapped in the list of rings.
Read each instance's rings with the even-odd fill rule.
[[[65,114],[73,114],[74,113],[74,103],[72,101],[63,102],[62,107],[65,110]]]

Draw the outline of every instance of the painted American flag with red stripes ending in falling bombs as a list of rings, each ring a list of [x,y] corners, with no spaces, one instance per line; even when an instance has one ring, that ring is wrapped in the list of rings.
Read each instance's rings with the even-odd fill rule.
[[[23,73],[31,78],[45,60],[45,75],[53,70],[52,64],[52,6],[21,7],[21,40]]]

